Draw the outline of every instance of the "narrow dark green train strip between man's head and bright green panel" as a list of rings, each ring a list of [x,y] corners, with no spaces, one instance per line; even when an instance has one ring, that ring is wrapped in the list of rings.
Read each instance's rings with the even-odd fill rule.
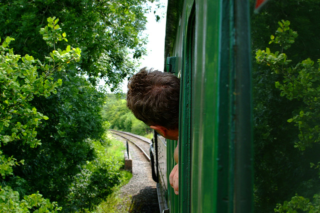
[[[181,71],[180,114],[179,114],[179,208],[180,213],[190,212],[191,179],[191,114],[192,74],[194,70],[195,3],[189,1],[185,8],[185,39],[183,48],[184,69]]]

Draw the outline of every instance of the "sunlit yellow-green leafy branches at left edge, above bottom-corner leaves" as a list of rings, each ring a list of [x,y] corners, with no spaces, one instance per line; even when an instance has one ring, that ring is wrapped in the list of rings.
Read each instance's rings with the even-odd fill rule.
[[[50,21],[53,22],[53,19]],[[51,37],[58,36],[59,32],[53,30]],[[1,135],[0,139],[4,145],[14,140],[22,140],[22,143],[27,143],[33,148],[39,144],[39,141],[35,139],[35,127],[40,124],[41,119],[47,120],[48,118],[38,113],[28,103],[34,98],[34,95],[48,97],[51,93],[56,93],[55,88],[60,86],[62,81],[61,79],[54,81],[52,73],[64,69],[62,64],[64,61],[78,59],[81,51],[79,48],[71,50],[70,46],[63,51],[53,50],[50,57],[46,57],[48,62],[41,64],[39,60],[27,54],[23,57],[14,55],[12,49],[6,48],[11,40],[14,39],[7,37],[2,43],[0,58],[2,67],[0,73],[2,91],[0,131],[7,132],[10,129],[11,134]],[[22,62],[19,62],[20,58]],[[50,64],[51,62],[53,64]],[[38,69],[41,75],[38,75]],[[22,123],[15,121],[17,117],[24,118],[25,121]]]

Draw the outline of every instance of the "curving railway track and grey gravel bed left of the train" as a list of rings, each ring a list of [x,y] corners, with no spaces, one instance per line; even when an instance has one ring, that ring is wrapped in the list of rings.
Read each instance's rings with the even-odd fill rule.
[[[156,183],[152,180],[150,158],[146,154],[149,153],[149,140],[127,132],[109,131],[117,140],[134,144],[130,144],[132,178],[121,187],[119,193],[119,197],[128,202],[122,203],[117,209],[130,210],[131,213],[159,213]]]

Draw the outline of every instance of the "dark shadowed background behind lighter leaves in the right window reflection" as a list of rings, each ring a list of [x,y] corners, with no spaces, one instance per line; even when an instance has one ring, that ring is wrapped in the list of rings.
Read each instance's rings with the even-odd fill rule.
[[[292,60],[291,64],[306,58],[313,61],[320,58],[317,50],[320,46],[320,34],[317,32],[320,23],[315,18],[319,7],[318,0],[273,0],[268,1],[259,13],[252,13],[252,61],[255,61],[258,49],[268,47],[273,52],[280,51],[278,44],[268,42],[281,19],[290,20],[290,27],[299,33],[294,45],[285,51]],[[252,63],[252,72],[254,205],[259,212],[272,212],[277,203],[290,200],[295,193],[303,195],[300,192],[305,192],[307,187],[312,189],[312,184],[313,189],[318,189],[317,181],[305,181],[316,174],[315,170],[306,168],[311,162],[309,160],[317,156],[318,146],[306,149],[303,154],[294,148],[298,131],[287,119],[292,118],[292,112],[303,106],[303,103],[280,96],[281,91],[274,86],[274,82],[282,82],[283,77],[271,74],[269,66],[258,63]],[[307,197],[311,200],[313,194],[309,193]]]

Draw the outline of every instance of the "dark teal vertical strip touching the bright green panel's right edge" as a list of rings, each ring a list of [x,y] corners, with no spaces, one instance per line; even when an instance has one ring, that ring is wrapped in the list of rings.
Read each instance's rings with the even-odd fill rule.
[[[219,66],[219,130],[218,130],[218,156],[217,156],[217,206],[223,213],[233,212],[233,162],[234,146],[233,135],[233,13],[229,1],[221,2],[221,39],[220,39],[220,66]]]

